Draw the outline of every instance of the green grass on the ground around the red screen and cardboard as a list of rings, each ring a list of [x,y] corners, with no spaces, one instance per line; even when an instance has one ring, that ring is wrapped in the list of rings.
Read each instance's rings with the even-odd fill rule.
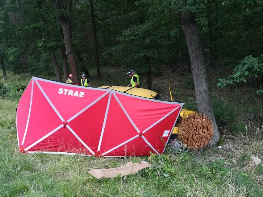
[[[104,75],[109,75],[104,71]],[[94,74],[93,71],[90,71]],[[31,76],[8,75],[3,81],[6,87],[12,81],[19,80],[27,85]],[[92,78],[93,87],[123,84],[127,81],[123,75],[97,82]],[[19,84],[17,81],[15,83]],[[179,89],[176,90],[179,92]],[[185,97],[186,100],[190,98]],[[15,127],[15,107],[18,101],[10,98],[0,99],[0,196],[263,196],[258,186],[257,175],[262,175],[262,164],[256,168],[248,166],[250,156],[257,156],[262,147],[262,129],[258,137],[249,137],[249,127],[241,133],[246,135],[247,147],[240,155],[238,164],[211,158],[220,154],[217,147],[202,152],[201,159],[196,153],[183,152],[172,154],[166,151],[159,156],[124,158],[94,158],[59,154],[21,154],[18,152]],[[193,104],[194,105],[194,104]],[[238,133],[239,127],[235,127]],[[240,128],[244,129],[243,127]],[[232,155],[228,154],[229,160]],[[111,168],[125,165],[128,161],[148,161],[149,168],[136,174],[117,176],[111,179],[95,179],[88,171],[94,168]],[[248,166],[247,171],[239,171],[239,166]],[[250,168],[249,168],[250,167]]]

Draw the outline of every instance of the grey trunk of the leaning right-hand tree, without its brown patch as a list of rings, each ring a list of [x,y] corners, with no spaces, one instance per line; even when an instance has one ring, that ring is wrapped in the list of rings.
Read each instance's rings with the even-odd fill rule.
[[[206,116],[211,121],[213,132],[211,140],[209,141],[207,146],[214,146],[219,140],[219,132],[215,121],[215,115],[212,109],[210,92],[207,82],[207,73],[205,69],[204,54],[198,27],[196,25],[194,14],[185,9],[185,1],[183,1],[181,4],[179,3],[179,1],[177,1],[177,4],[180,9],[179,15],[181,18],[182,28],[185,34],[191,60],[198,112]]]

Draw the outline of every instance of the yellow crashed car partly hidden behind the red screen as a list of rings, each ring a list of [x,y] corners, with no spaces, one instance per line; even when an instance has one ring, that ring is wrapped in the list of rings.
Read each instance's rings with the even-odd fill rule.
[[[144,88],[130,88],[130,87],[123,87],[123,86],[101,86],[98,88],[107,88],[107,89],[114,89],[119,92],[125,92],[127,94],[135,95],[135,96],[142,96],[144,98],[150,98],[150,99],[156,99],[159,101],[167,101],[164,97],[162,97],[157,92],[154,92],[152,90],[144,89]],[[196,113],[196,111],[188,110],[188,109],[182,109],[180,115],[178,118],[184,119],[187,115]],[[175,124],[176,125],[176,124]],[[178,127],[174,127],[171,137],[169,138],[168,144],[170,146],[170,149],[173,152],[178,152],[182,150],[182,143],[180,142],[179,136],[178,136]]]

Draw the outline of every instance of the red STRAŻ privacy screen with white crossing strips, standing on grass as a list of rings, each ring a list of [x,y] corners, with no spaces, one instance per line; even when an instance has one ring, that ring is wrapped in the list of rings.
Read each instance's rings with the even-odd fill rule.
[[[182,106],[32,77],[17,107],[19,151],[111,157],[161,154]]]

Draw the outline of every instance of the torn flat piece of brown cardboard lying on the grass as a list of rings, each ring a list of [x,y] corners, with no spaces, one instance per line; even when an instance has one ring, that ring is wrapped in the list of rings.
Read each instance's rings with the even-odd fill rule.
[[[96,177],[97,179],[100,178],[112,178],[121,174],[121,176],[126,176],[129,174],[137,173],[139,170],[147,168],[151,166],[148,162],[140,162],[140,163],[132,163],[127,162],[126,165],[116,167],[116,168],[109,168],[109,169],[93,169],[88,171],[92,176]]]

